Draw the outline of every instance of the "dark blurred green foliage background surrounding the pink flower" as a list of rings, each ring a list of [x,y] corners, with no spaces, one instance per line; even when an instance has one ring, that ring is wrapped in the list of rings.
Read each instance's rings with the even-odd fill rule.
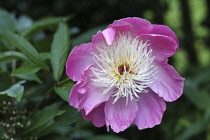
[[[0,0],[0,139],[210,140],[209,0]],[[114,20],[142,17],[177,34],[170,58],[186,78],[162,123],[115,134],[84,121],[66,102],[70,50]]]

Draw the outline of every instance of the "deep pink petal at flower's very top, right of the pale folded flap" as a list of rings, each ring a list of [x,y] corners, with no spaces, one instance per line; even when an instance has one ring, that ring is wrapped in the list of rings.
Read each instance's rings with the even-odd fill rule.
[[[133,17],[133,18],[124,18],[121,19],[120,21],[130,23],[133,26],[131,30],[131,35],[133,36],[136,35],[139,36],[140,34],[147,34],[152,30],[151,23],[146,19]]]

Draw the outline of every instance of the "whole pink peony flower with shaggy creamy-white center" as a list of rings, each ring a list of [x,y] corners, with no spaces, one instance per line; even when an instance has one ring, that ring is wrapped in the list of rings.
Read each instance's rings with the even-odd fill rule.
[[[160,124],[165,101],[183,91],[184,78],[167,63],[178,46],[167,26],[136,17],[114,21],[70,53],[66,73],[77,83],[69,104],[117,133],[131,124],[140,130]]]

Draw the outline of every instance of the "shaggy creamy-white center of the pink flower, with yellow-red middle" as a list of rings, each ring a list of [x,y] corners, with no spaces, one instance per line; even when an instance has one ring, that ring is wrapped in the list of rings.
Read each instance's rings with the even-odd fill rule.
[[[138,100],[138,93],[147,92],[146,88],[154,82],[157,67],[153,65],[154,56],[147,42],[139,38],[121,34],[111,45],[102,44],[93,53],[96,67],[92,67],[97,86],[107,87],[102,94],[112,92],[115,97],[126,97],[127,102]]]

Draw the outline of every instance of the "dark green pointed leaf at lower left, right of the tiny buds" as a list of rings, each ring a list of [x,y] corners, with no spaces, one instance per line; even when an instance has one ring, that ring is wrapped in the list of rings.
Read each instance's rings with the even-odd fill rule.
[[[32,117],[30,127],[24,132],[29,133],[42,127],[44,124],[51,121],[54,117],[63,114],[65,111],[59,109],[60,104],[55,103],[52,105],[46,106],[44,109],[37,111],[36,114]]]

